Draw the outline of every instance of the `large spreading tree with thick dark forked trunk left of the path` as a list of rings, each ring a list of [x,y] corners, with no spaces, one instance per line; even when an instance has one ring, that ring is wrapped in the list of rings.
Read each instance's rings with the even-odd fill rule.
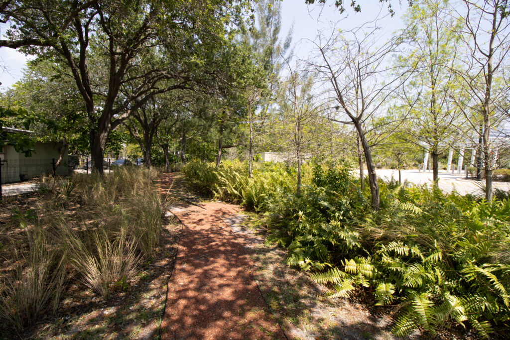
[[[92,166],[103,173],[111,130],[152,96],[191,88],[212,76],[211,51],[223,46],[227,25],[240,19],[245,5],[235,0],[8,1],[0,6],[0,21],[10,24],[0,47],[53,55],[67,67],[89,120]],[[159,62],[152,64],[154,56]],[[203,65],[211,67],[209,72],[196,72]],[[163,85],[168,80],[173,82]],[[133,91],[121,95],[123,88]]]

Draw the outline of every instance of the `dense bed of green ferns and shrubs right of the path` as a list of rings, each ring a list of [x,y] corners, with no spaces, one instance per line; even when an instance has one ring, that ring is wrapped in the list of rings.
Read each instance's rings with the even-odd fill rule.
[[[258,181],[248,181],[241,168],[190,164],[184,173],[217,198],[263,212],[268,241],[286,247],[287,264],[309,271],[329,296],[362,287],[375,304],[398,310],[392,331],[399,336],[459,325],[481,337],[502,336],[510,327],[508,199],[380,181],[381,210],[374,212],[348,166],[316,163],[302,195],[293,193],[290,176],[287,185],[273,179],[252,205],[247,193]],[[253,177],[268,180],[274,172],[285,179],[282,170],[263,165]],[[194,177],[201,171],[207,176]]]

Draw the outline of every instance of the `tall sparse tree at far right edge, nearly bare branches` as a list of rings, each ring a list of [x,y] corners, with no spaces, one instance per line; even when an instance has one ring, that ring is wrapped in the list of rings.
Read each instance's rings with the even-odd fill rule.
[[[507,0],[462,1],[464,11],[457,12],[464,22],[460,34],[465,47],[462,68],[455,69],[462,80],[462,89],[469,100],[456,98],[471,132],[480,140],[480,162],[486,174],[486,199],[492,199],[492,172],[496,164],[491,142],[494,125],[502,116],[498,103],[508,93],[505,86],[510,21]],[[499,79],[499,82],[498,82]],[[454,97],[454,96],[453,96]],[[455,97],[454,97],[455,98]]]

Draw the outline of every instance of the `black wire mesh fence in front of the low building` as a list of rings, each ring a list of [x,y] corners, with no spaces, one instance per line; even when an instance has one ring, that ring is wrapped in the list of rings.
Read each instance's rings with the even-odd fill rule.
[[[39,177],[48,175],[67,176],[69,165],[51,160],[0,160],[0,198],[34,192],[39,186]],[[72,165],[73,166],[73,165]]]

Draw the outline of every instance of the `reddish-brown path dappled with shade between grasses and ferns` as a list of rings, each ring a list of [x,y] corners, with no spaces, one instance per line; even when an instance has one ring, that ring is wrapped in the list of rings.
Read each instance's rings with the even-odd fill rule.
[[[162,178],[162,187],[173,186],[170,190],[182,198],[170,211],[183,223],[162,339],[285,338],[253,280],[243,240],[222,220],[240,208],[219,202],[197,205],[194,197],[182,196],[182,178],[176,176]]]

